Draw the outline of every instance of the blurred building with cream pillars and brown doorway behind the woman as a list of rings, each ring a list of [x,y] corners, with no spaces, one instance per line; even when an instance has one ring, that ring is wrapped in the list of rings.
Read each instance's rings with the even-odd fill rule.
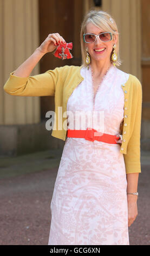
[[[110,13],[120,33],[119,67],[142,83],[141,149],[150,150],[150,1],[149,0],[0,0],[0,155],[21,155],[63,147],[45,129],[45,113],[54,111],[54,97],[11,96],[3,86],[50,33],[73,42],[74,58],[60,60],[47,53],[32,71],[81,65],[80,26],[91,8]]]

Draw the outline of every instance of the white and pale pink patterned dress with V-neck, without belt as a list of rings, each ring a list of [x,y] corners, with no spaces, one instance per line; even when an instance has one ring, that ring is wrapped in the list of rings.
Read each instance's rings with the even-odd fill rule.
[[[77,111],[86,117],[82,130],[89,127],[87,113],[93,117],[97,111],[102,113],[99,121],[90,119],[90,126],[117,135],[123,119],[121,84],[129,74],[112,66],[95,100],[91,69],[81,68],[81,75],[84,80],[67,103],[67,111],[74,113],[68,129],[76,129],[73,125],[81,129]],[[119,143],[67,137],[50,204],[48,245],[129,245],[126,168],[120,147]]]

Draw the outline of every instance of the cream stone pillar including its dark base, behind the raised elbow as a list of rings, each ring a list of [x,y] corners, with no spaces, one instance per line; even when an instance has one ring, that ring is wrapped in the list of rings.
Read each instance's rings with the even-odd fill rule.
[[[12,96],[3,86],[39,46],[38,0],[0,0],[0,155],[54,147],[40,118],[40,97]],[[37,64],[31,73],[40,74]]]

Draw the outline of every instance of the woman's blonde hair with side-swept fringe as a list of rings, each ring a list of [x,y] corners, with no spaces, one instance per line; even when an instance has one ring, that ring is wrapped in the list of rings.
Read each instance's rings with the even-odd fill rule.
[[[83,34],[86,33],[86,28],[89,22],[92,22],[96,27],[99,27],[102,31],[111,32],[112,34],[118,34],[118,41],[116,42],[115,52],[118,56],[116,60],[116,66],[120,66],[122,61],[119,56],[119,33],[118,27],[114,19],[110,16],[110,14],[106,13],[105,11],[97,11],[97,10],[90,10],[89,13],[84,17],[84,20],[81,25],[81,32],[80,32],[80,39],[81,39],[81,54],[82,54],[82,65],[87,66],[86,64],[86,47],[85,43],[83,42]],[[113,49],[114,50],[114,49]],[[113,50],[110,54],[110,62],[113,63],[112,54]]]

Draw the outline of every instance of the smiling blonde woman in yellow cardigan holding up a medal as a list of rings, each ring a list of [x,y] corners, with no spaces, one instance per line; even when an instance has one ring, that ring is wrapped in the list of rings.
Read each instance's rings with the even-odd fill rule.
[[[48,244],[129,245],[128,226],[138,215],[141,84],[116,68],[121,64],[118,28],[104,11],[84,17],[81,66],[30,76],[60,42],[65,42],[60,34],[49,34],[4,86],[10,95],[55,95],[52,136],[65,144],[50,205]],[[59,107],[62,114],[67,111],[62,129],[57,127]]]

